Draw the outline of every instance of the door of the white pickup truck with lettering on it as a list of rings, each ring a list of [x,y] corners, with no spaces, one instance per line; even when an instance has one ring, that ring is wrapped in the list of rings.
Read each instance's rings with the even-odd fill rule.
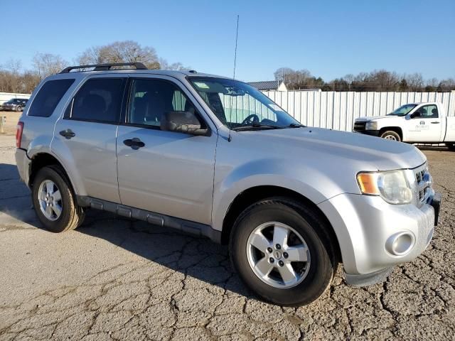
[[[417,117],[407,120],[407,141],[410,142],[439,142],[444,139],[441,121],[436,104],[425,104],[414,113]]]

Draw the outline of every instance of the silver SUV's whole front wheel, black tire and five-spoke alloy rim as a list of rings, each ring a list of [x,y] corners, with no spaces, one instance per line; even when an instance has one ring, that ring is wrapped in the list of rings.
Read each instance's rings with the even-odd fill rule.
[[[326,291],[336,271],[324,228],[317,215],[298,202],[262,200],[235,222],[230,236],[232,264],[265,301],[311,303]]]

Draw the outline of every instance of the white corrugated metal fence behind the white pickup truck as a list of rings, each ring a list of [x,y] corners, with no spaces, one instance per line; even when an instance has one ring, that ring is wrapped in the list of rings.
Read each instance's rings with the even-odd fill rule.
[[[307,126],[352,131],[362,116],[380,116],[402,104],[440,102],[455,116],[455,92],[264,92],[280,107]]]

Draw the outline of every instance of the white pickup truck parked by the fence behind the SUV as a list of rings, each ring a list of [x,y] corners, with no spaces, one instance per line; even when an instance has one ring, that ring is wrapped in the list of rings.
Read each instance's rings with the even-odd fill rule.
[[[455,149],[455,117],[437,102],[410,103],[386,116],[359,117],[354,131],[410,143],[445,143]]]

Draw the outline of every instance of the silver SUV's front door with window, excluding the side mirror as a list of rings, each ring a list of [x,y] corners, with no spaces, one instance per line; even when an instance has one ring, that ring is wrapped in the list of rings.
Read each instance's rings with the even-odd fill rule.
[[[207,117],[169,77],[133,78],[130,83],[125,122],[117,133],[122,204],[210,224],[215,129],[210,136],[161,130],[164,112],[193,111],[205,124]]]

